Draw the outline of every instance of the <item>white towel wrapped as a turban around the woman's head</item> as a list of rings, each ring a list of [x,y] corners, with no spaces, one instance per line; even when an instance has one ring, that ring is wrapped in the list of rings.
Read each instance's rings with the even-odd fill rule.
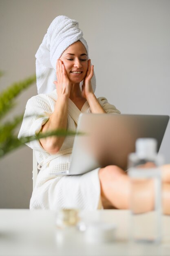
[[[50,24],[43,40],[35,54],[36,58],[36,78],[38,94],[49,94],[55,90],[54,81],[56,77],[56,62],[62,53],[78,40],[83,43],[88,56],[88,45],[83,38],[83,32],[78,27],[76,20],[66,16],[57,16]],[[89,59],[89,57],[88,57]],[[80,83],[82,90],[83,81]],[[91,79],[93,92],[95,92],[95,74]]]

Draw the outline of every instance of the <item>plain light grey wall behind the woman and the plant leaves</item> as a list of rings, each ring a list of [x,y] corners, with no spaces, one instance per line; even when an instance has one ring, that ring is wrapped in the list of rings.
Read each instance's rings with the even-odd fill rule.
[[[35,53],[52,20],[79,21],[97,78],[96,96],[121,113],[170,115],[169,0],[1,0],[2,90],[35,73]],[[11,116],[37,94],[22,93]],[[170,163],[170,124],[160,153]],[[0,208],[29,208],[32,150],[23,147],[0,160]]]

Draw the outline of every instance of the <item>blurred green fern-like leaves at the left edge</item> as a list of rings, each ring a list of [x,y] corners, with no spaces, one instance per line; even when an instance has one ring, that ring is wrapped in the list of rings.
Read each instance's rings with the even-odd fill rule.
[[[0,71],[0,77],[4,75],[3,71]],[[12,121],[4,121],[3,118],[9,113],[10,110],[16,105],[16,97],[26,88],[29,88],[33,83],[36,82],[36,76],[30,76],[29,78],[13,83],[7,89],[0,92],[0,158],[11,152],[15,148],[23,146],[26,142],[33,141],[52,135],[56,136],[68,136],[80,134],[66,130],[55,130],[52,132],[39,133],[35,136],[21,137],[18,139],[16,134],[16,128],[21,124],[23,115],[13,117]]]

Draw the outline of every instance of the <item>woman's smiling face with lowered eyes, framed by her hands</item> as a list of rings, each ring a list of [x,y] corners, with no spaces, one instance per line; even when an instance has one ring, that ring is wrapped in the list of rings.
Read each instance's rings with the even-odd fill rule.
[[[70,45],[63,52],[60,60],[66,68],[66,73],[71,83],[80,83],[84,79],[88,68],[88,59],[86,48],[80,41]],[[78,72],[78,74],[75,72]]]

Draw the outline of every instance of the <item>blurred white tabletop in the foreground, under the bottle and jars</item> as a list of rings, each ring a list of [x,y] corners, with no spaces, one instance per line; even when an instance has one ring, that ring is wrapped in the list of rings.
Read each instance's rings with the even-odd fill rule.
[[[170,216],[162,216],[163,239],[159,245],[128,242],[128,211],[82,211],[85,220],[117,224],[115,242],[87,243],[78,230],[60,234],[55,212],[27,209],[0,210],[0,256],[168,256]]]

